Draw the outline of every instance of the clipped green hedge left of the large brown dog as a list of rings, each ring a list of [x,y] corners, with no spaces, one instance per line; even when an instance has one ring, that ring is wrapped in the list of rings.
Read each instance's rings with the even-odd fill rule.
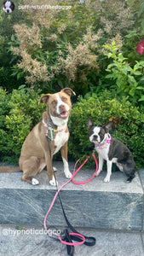
[[[0,90],[0,160],[18,160],[22,143],[45,110],[37,104],[40,96],[41,90],[26,90],[25,86],[9,95]]]

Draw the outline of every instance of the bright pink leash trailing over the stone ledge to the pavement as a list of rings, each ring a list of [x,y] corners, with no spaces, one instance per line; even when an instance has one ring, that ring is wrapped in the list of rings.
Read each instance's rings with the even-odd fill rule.
[[[77,171],[75,171],[75,169],[76,169],[76,166],[77,166],[78,161],[79,161],[80,159],[76,162],[76,164],[75,164],[75,166],[74,166],[74,172],[73,172],[72,177],[71,177],[66,183],[62,184],[62,185],[60,186],[60,188],[57,190],[57,192],[55,193],[55,197],[54,197],[53,201],[51,202],[51,205],[50,205],[50,207],[49,207],[49,210],[48,210],[48,212],[46,213],[46,215],[45,215],[45,217],[44,217],[43,225],[44,225],[44,229],[45,229],[45,230],[47,230],[47,226],[46,226],[47,217],[48,217],[49,212],[51,211],[51,209],[52,209],[52,207],[53,207],[53,205],[54,205],[54,203],[55,203],[55,199],[56,199],[57,195],[59,194],[60,189],[62,189],[64,186],[66,186],[67,183],[69,183],[69,182],[71,182],[71,181],[72,181],[72,183],[75,183],[75,184],[85,184],[85,183],[89,183],[89,181],[92,180],[92,179],[95,177],[96,172],[98,171],[98,164],[97,164],[97,160],[96,160],[96,158],[95,158],[95,154],[92,154],[92,156],[93,156],[93,158],[94,158],[94,160],[95,160],[95,166],[96,166],[96,168],[95,168],[95,173],[93,174],[93,176],[92,176],[91,178],[89,178],[88,180],[86,180],[86,181],[84,181],[84,182],[78,183],[78,182],[74,181],[73,178],[76,176],[76,174],[78,173],[78,171],[85,165],[85,163],[89,160],[89,158],[86,159],[86,160],[84,160],[84,163],[83,163],[81,166],[78,167]],[[70,234],[69,234],[70,236],[79,236],[79,237],[83,238],[83,241],[79,241],[79,242],[75,242],[75,243],[63,241],[63,240],[60,238],[59,235],[57,235],[57,234],[55,234],[55,235],[58,236],[58,239],[60,240],[60,242],[64,243],[65,245],[69,245],[69,246],[81,245],[81,244],[83,244],[84,241],[85,241],[85,237],[84,237],[83,235],[81,235],[81,234],[78,234],[78,233],[70,233]]]

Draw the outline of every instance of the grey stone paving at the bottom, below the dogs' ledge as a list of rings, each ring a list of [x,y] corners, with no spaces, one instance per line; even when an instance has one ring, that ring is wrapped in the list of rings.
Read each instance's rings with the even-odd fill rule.
[[[0,225],[1,256],[66,256],[66,246],[42,234],[43,226],[25,225],[16,230],[13,224]],[[17,232],[14,233],[14,232]],[[24,233],[25,231],[25,233]],[[39,233],[38,233],[39,231]],[[75,256],[143,256],[140,232],[78,229],[85,236],[95,236],[94,247],[75,247]],[[33,232],[33,233],[32,233]],[[37,233],[37,235],[36,235]]]

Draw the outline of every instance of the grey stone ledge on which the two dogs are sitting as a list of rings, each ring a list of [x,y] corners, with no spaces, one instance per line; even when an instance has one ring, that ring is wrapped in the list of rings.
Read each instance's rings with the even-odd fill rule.
[[[55,162],[59,185],[66,182],[62,162]],[[70,170],[73,170],[70,163]],[[95,170],[81,170],[76,179],[84,181]],[[104,183],[106,172],[101,172],[89,183],[68,183],[60,191],[66,216],[73,226],[105,230],[143,230],[144,170],[136,173],[132,183],[126,183],[122,172],[112,172],[110,183]],[[22,182],[22,173],[0,173],[0,223],[43,224],[43,218],[55,195],[49,185],[47,172],[37,175],[40,184]],[[65,226],[66,222],[58,199],[49,213],[47,224]]]

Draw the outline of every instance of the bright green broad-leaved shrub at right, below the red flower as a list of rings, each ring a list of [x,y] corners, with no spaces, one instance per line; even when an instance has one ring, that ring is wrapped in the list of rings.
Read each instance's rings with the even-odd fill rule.
[[[116,89],[118,95],[128,96],[129,101],[134,105],[138,103],[140,105],[144,101],[144,88],[140,86],[141,81],[143,82],[144,61],[135,61],[135,66],[132,68],[122,53],[117,54],[118,45],[115,45],[114,41],[111,46],[104,45],[104,47],[109,51],[107,57],[112,59],[112,63],[107,67],[109,74],[106,76],[112,79],[112,88]]]

